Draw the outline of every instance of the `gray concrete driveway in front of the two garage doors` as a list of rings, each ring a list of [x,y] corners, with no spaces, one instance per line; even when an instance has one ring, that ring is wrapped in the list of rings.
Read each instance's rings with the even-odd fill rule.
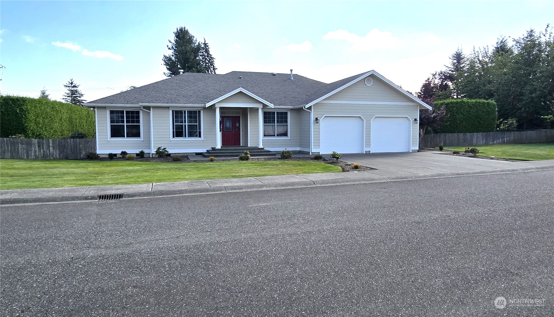
[[[508,162],[486,160],[483,158],[445,155],[439,151],[344,154],[341,161],[360,163],[363,166],[377,168],[371,171],[382,176],[401,176],[452,173],[468,171],[501,170],[514,167],[554,166],[554,160]]]

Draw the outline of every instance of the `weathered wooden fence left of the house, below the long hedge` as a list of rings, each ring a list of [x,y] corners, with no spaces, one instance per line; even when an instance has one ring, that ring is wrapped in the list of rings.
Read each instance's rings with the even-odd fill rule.
[[[9,139],[0,138],[0,158],[86,158],[96,153],[96,139]]]

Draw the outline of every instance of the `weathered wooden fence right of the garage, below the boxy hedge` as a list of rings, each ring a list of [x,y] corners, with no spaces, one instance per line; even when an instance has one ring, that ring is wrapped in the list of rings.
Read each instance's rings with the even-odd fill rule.
[[[419,146],[436,147],[440,144],[443,146],[471,146],[535,142],[554,142],[554,129],[515,132],[426,134],[423,136]]]

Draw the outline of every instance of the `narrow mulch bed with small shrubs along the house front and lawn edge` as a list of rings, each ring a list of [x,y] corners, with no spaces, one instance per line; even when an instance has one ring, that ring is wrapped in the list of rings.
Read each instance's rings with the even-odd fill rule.
[[[207,160],[191,160],[187,155],[181,156],[181,159],[182,159],[181,161],[173,161],[173,157],[170,157],[170,156],[167,156],[167,157],[145,157],[145,158],[135,157],[135,159],[133,161],[137,161],[137,162],[165,162],[165,163],[209,162]],[[99,158],[99,161],[110,161],[110,159],[107,158],[107,157],[101,157],[101,158]],[[114,157],[114,161],[126,161],[126,158]],[[217,158],[216,161],[217,162],[238,161],[238,158],[233,158],[233,157]],[[286,160],[283,160],[282,158],[279,158],[279,157],[252,157],[252,158],[250,158],[250,161],[314,161],[314,162],[322,162],[322,163],[327,163],[327,164],[331,164],[331,165],[335,165],[335,166],[340,166],[342,168],[343,172],[375,170],[375,168],[365,167],[365,166],[360,166],[360,168],[356,169],[356,168],[352,168],[352,165],[347,165],[347,164],[350,164],[350,163],[347,163],[347,162],[336,161],[336,160],[329,160],[329,161],[314,160],[311,157],[293,157],[293,158],[288,158]]]

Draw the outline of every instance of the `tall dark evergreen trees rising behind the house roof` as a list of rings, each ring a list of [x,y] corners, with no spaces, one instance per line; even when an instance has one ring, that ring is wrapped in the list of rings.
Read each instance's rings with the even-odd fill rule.
[[[164,75],[171,77],[179,74],[179,69],[185,73],[216,73],[214,58],[209,53],[209,46],[204,42],[198,42],[197,39],[188,32],[186,27],[178,27],[173,32],[174,38],[170,40],[167,49],[171,51],[168,55],[163,55],[162,62],[167,69]],[[202,52],[202,57],[201,57]]]

